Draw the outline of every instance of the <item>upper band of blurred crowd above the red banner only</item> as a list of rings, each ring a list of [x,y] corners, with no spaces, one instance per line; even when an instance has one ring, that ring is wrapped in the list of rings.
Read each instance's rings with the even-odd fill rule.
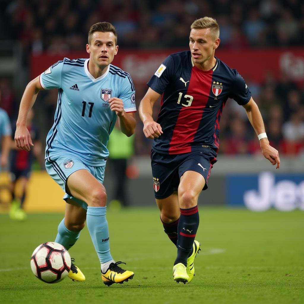
[[[301,0],[10,0],[1,1],[2,39],[26,52],[83,50],[90,26],[113,23],[124,48],[184,47],[202,16],[220,25],[221,47],[304,44]]]

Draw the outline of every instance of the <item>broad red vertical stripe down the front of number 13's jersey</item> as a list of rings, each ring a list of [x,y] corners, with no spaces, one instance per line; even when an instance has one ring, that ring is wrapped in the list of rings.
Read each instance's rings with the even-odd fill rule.
[[[203,112],[209,99],[210,89],[212,86],[213,71],[203,72],[193,67],[187,94],[181,97],[181,109],[178,114],[173,135],[170,142],[169,154],[191,152],[191,143],[199,128]],[[185,79],[187,81],[188,79]],[[191,96],[190,96],[191,95]],[[188,105],[193,97],[190,106]],[[178,100],[178,92],[176,92]],[[176,105],[179,106],[178,104]]]

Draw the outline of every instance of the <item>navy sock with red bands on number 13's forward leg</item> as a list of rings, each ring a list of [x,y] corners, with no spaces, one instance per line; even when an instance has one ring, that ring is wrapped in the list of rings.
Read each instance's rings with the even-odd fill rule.
[[[180,209],[178,222],[177,257],[174,265],[182,263],[187,266],[187,258],[192,251],[196,232],[199,228],[199,209],[195,207]]]

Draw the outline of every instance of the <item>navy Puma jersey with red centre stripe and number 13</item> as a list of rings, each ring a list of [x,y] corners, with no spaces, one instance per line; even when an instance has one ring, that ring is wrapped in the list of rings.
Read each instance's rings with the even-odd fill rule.
[[[163,134],[152,149],[180,154],[219,148],[219,120],[228,98],[245,105],[251,93],[242,76],[216,58],[215,66],[202,71],[194,66],[191,52],[169,55],[147,85],[162,94],[157,123]]]

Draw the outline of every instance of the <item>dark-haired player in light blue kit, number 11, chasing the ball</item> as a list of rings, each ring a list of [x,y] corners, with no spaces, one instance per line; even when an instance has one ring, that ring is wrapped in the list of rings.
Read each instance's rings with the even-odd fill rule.
[[[47,172],[66,192],[65,217],[55,242],[70,249],[86,221],[101,263],[102,280],[109,286],[134,276],[110,254],[107,196],[102,182],[109,134],[117,117],[126,136],[134,133],[135,89],[130,75],[111,64],[118,51],[116,29],[111,23],[98,22],[91,27],[86,50],[89,59],[64,58],[27,85],[15,142],[24,150],[33,146],[26,129],[27,113],[40,90],[58,88],[55,121],[47,135],[45,155]],[[85,280],[74,264],[69,277]]]

